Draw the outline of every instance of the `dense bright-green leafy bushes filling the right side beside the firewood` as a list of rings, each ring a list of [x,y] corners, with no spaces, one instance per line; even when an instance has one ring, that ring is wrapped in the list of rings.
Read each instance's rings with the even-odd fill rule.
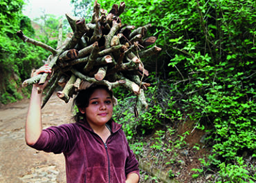
[[[99,2],[111,8],[111,1]],[[166,72],[169,66],[169,79],[158,73],[163,84],[149,88],[146,96],[152,100],[139,125],[155,128],[185,113],[199,128],[213,126],[208,138],[214,154],[211,163],[219,173],[223,174],[223,163],[229,170],[237,168],[237,157],[244,151],[255,154],[256,149],[255,1],[144,0],[126,5],[124,23],[136,27],[152,23],[155,31],[149,34],[156,35],[156,44],[163,48],[161,68]],[[169,90],[170,97],[159,96],[160,86]]]

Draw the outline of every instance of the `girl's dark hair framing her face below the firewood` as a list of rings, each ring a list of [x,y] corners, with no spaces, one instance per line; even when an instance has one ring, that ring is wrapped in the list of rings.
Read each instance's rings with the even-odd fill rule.
[[[80,90],[77,93],[77,96],[75,97],[75,99],[73,101],[73,108],[74,108],[74,106],[77,106],[77,108],[88,107],[89,99],[90,99],[91,95],[94,93],[94,91],[97,89],[106,90],[107,93],[109,93],[111,99],[113,100],[113,92],[112,92],[112,90],[109,90],[108,86],[102,85],[102,84],[91,84],[91,86],[89,86],[89,88]],[[79,122],[80,119],[82,119],[85,116],[86,116],[85,113],[82,114],[82,113],[80,113],[80,110],[78,110],[78,112],[75,114],[75,116],[73,116],[73,119],[75,120],[75,122]]]

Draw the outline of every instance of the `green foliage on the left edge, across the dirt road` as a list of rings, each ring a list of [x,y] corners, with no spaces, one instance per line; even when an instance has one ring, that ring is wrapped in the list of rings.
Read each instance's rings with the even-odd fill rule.
[[[21,81],[30,77],[31,69],[42,65],[46,52],[42,48],[28,46],[15,34],[22,30],[29,37],[35,35],[30,19],[22,15],[24,1],[0,2],[0,102],[7,104],[21,99]]]

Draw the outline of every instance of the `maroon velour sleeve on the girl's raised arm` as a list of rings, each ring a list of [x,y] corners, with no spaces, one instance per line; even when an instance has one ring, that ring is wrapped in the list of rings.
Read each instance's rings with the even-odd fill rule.
[[[78,139],[79,131],[75,124],[51,126],[42,131],[37,142],[30,147],[47,153],[64,153],[71,151]]]

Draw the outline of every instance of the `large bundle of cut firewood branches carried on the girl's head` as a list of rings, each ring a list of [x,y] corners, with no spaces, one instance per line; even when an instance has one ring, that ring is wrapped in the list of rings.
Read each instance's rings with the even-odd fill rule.
[[[59,28],[57,48],[43,44],[26,37],[21,30],[17,35],[24,41],[49,50],[47,64],[53,70],[48,81],[48,93],[44,97],[42,107],[53,95],[57,86],[63,90],[57,96],[64,102],[73,97],[80,90],[83,81],[104,84],[109,88],[125,86],[137,95],[138,109],[147,108],[143,90],[150,84],[143,82],[143,77],[149,75],[142,61],[161,50],[157,46],[148,46],[156,42],[156,37],[147,37],[147,29],[151,25],[135,28],[121,23],[120,15],[125,10],[125,2],[120,6],[114,4],[111,11],[100,9],[97,0],[93,7],[90,23],[84,19],[76,19],[66,15],[73,34],[62,42],[62,23]],[[23,86],[29,84],[44,84],[48,73],[31,77],[24,81]]]

